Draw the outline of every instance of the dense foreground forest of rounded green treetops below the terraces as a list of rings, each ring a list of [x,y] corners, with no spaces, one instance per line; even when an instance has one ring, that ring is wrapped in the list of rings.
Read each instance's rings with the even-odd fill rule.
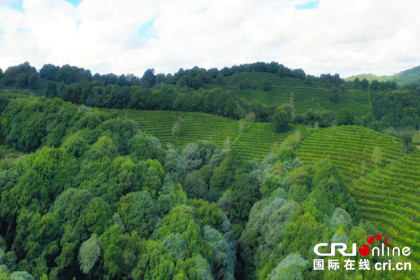
[[[0,160],[1,279],[329,279],[311,248],[372,235],[337,168],[303,166],[288,143],[257,164],[60,99],[0,97],[1,142],[32,152]]]

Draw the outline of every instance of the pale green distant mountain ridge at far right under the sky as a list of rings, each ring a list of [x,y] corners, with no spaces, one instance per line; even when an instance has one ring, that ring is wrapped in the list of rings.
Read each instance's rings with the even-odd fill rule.
[[[346,81],[354,80],[355,78],[359,78],[360,80],[366,79],[369,82],[372,80],[378,80],[379,82],[384,82],[387,80],[393,80],[400,86],[404,85],[411,85],[414,83],[420,83],[420,66],[416,66],[412,69],[408,69],[405,71],[401,71],[400,73],[395,73],[391,76],[377,76],[372,73],[368,74],[359,74],[344,78]]]

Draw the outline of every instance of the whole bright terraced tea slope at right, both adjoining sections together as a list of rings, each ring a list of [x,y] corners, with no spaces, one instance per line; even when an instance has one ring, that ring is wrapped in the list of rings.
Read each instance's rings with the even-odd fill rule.
[[[342,126],[311,134],[297,155],[307,164],[322,158],[334,162],[351,181],[362,218],[374,224],[391,246],[409,246],[409,261],[420,262],[420,151],[404,156],[400,139],[365,127]]]

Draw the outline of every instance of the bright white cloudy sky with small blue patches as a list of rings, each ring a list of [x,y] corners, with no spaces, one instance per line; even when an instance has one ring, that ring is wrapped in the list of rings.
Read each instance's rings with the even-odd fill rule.
[[[416,0],[0,0],[0,67],[158,73],[276,61],[307,73],[420,65]]]

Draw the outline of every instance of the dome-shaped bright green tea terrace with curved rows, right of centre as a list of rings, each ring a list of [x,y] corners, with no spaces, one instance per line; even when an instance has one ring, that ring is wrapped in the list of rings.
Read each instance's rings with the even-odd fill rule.
[[[328,158],[351,181],[397,160],[404,149],[400,139],[349,125],[311,134],[297,148],[297,156],[308,164]]]

